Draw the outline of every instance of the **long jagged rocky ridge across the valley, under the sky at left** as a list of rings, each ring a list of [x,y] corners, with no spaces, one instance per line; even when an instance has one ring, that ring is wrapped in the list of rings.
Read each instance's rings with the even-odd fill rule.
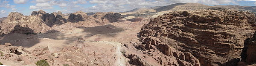
[[[96,13],[87,16],[86,13],[78,11],[65,16],[60,11],[58,13],[46,13],[42,10],[33,11],[29,16],[21,13],[11,12],[8,17],[0,24],[1,34],[8,34],[13,30],[26,29],[32,32],[20,31],[23,34],[40,34],[51,29],[64,29],[67,27],[89,27],[100,26],[119,21],[119,13]]]

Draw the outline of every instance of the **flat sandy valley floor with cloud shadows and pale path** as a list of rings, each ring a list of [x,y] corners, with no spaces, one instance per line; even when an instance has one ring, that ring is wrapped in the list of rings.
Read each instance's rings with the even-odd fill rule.
[[[48,46],[50,53],[53,53],[64,47],[70,47],[77,44],[90,45],[94,44],[92,41],[97,41],[95,43],[102,47],[104,47],[106,43],[108,46],[111,45],[115,47],[116,52],[114,52],[114,54],[117,55],[118,59],[116,59],[116,63],[113,65],[125,66],[127,60],[125,60],[126,58],[123,57],[120,52],[121,45],[125,42],[137,42],[137,35],[140,32],[141,27],[147,23],[147,21],[120,21],[104,26],[73,28],[65,30],[65,32],[53,32],[49,34],[6,34],[5,36],[0,37],[0,44],[4,45],[4,43],[9,42],[12,43],[13,46],[22,46],[27,50]],[[111,47],[108,48],[107,45],[105,49],[111,49]],[[97,47],[96,49],[100,48]],[[3,59],[0,59],[0,62],[10,63]],[[15,63],[7,65],[13,66],[13,64],[17,65]]]

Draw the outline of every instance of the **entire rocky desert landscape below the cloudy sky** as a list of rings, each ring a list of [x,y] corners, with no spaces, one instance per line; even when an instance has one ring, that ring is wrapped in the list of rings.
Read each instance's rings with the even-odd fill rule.
[[[176,3],[126,12],[10,12],[0,18],[0,63],[256,66],[255,30],[255,6]]]

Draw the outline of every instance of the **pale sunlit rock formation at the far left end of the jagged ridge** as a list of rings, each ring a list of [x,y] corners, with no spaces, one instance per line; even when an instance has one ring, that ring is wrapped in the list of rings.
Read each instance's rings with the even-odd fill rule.
[[[44,11],[34,11],[30,16],[23,16],[21,13],[12,12],[0,26],[4,34],[11,32],[15,26],[28,27],[35,33],[44,32],[50,28],[48,25],[53,24],[50,22],[52,21],[51,18],[44,17],[49,16],[49,14],[44,15],[44,13]]]

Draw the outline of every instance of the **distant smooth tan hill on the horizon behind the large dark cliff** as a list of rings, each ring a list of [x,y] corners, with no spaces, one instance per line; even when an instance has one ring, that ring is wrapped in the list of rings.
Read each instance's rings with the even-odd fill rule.
[[[176,3],[167,6],[157,6],[151,8],[135,8],[131,11],[121,13],[126,16],[134,17],[157,17],[163,13],[169,13],[172,11],[184,11],[184,10],[198,10],[198,9],[211,9],[211,10],[237,10],[237,11],[250,11],[256,14],[255,6],[239,6],[239,5],[215,5],[208,6],[200,3]]]

